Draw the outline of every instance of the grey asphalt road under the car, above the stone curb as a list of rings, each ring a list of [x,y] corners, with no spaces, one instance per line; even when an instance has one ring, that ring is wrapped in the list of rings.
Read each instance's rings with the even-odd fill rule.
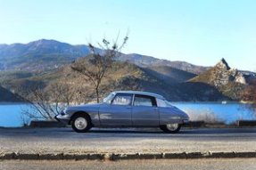
[[[77,134],[70,128],[0,128],[0,152],[180,152],[255,151],[256,128],[182,129],[164,134],[158,129],[92,129]]]

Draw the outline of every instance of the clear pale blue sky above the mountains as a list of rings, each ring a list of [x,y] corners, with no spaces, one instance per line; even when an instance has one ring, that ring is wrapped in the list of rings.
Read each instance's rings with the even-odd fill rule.
[[[254,0],[0,0],[0,44],[72,45],[129,32],[123,53],[256,70]]]

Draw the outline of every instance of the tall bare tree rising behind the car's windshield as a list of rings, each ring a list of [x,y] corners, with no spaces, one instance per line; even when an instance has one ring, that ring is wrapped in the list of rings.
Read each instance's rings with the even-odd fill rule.
[[[99,102],[99,90],[103,81],[103,77],[106,76],[106,72],[111,68],[115,57],[120,55],[121,49],[128,42],[128,36],[123,38],[123,41],[118,45],[118,38],[114,43],[111,43],[103,39],[102,44],[98,44],[98,48],[95,45],[89,44],[91,54],[84,58],[79,58],[73,62],[71,69],[80,74],[87,82],[94,85],[96,99]]]

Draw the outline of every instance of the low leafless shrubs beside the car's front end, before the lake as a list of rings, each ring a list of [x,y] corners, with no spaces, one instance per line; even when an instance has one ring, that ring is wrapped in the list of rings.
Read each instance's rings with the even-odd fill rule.
[[[64,107],[70,105],[75,91],[67,83],[54,83],[43,89],[40,86],[30,87],[23,95],[29,102],[29,109],[23,109],[22,114],[34,119],[53,120]]]

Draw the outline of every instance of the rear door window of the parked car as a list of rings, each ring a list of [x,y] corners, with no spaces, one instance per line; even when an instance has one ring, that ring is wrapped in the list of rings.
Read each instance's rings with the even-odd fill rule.
[[[134,106],[156,106],[156,101],[154,97],[147,95],[136,94],[134,98]]]

